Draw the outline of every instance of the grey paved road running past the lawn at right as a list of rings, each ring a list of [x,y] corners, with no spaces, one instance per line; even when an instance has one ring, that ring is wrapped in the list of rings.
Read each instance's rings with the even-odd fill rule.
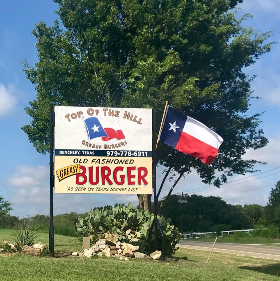
[[[182,239],[177,246],[182,248],[211,251],[213,242],[199,242]],[[276,246],[265,246],[261,244],[216,243],[213,251],[280,260],[280,247]]]

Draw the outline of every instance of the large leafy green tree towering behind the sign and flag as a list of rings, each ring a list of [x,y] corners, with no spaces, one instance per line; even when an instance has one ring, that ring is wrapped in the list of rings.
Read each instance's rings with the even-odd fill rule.
[[[49,104],[154,108],[157,131],[164,102],[224,137],[212,165],[159,145],[158,164],[179,178],[195,170],[219,187],[227,177],[254,172],[247,149],[267,144],[261,114],[247,116],[252,91],[243,69],[269,52],[270,32],[242,27],[242,0],[54,0],[58,21],[32,34],[39,61],[24,62],[37,90],[23,126],[35,149],[49,152]],[[219,171],[220,173],[216,173]],[[221,176],[216,176],[221,174]],[[165,177],[166,179],[167,177]],[[162,185],[164,182],[162,183]],[[139,195],[150,207],[151,196]]]

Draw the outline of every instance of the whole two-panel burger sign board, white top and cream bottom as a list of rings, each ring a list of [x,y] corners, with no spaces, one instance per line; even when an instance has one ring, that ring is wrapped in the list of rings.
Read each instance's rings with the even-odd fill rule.
[[[152,193],[152,110],[55,106],[55,193]]]

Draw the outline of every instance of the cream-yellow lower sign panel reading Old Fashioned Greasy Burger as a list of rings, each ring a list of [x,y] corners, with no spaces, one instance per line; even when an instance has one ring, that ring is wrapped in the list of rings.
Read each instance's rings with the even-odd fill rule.
[[[55,162],[56,167],[80,163],[56,171],[56,193],[151,194],[150,157],[55,156]]]

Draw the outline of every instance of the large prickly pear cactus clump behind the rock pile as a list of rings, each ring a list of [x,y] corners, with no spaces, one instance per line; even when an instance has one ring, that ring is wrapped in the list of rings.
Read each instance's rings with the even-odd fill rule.
[[[117,235],[121,242],[128,242],[139,246],[140,251],[147,253],[148,249],[148,230],[154,219],[154,215],[148,211],[133,208],[132,204],[128,206],[116,206],[102,208],[102,210],[90,210],[84,218],[78,219],[75,225],[76,234],[79,240],[83,237],[90,237],[91,243],[98,239],[107,238],[108,233]],[[171,219],[165,219],[158,216],[160,225],[165,234],[166,254],[171,256],[175,251],[175,246],[180,240],[180,232],[174,225],[171,225]],[[151,235],[151,249],[155,245],[154,232]],[[158,249],[161,250],[162,242],[158,235]]]

